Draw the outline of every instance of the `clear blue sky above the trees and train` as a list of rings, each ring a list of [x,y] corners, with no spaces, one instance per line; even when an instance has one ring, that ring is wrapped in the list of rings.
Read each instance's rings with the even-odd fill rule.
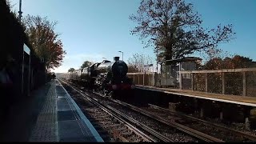
[[[18,11],[19,0],[10,0]],[[218,46],[229,54],[239,54],[256,61],[256,0],[187,0],[201,14],[202,26],[233,24],[235,39]],[[22,16],[39,15],[57,21],[55,31],[66,50],[62,66],[54,72],[78,69],[84,61],[113,61],[119,56],[127,62],[133,54],[156,58],[153,47],[143,48],[130,30],[136,26],[129,16],[136,14],[139,0],[22,0]],[[198,54],[194,56],[200,57]],[[156,63],[156,62],[154,62]]]

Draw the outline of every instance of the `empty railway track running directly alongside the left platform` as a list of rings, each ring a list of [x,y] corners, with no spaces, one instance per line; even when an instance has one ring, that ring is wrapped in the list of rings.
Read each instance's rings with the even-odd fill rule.
[[[67,86],[69,84],[66,83]],[[70,86],[77,94],[72,94],[86,116],[90,116],[92,124],[105,141],[109,142],[173,142],[170,138],[159,134],[156,130],[141,124],[111,106],[103,105],[96,98],[82,93]],[[78,97],[78,94],[80,97]],[[82,96],[82,97],[81,97]],[[103,130],[102,130],[103,129]]]

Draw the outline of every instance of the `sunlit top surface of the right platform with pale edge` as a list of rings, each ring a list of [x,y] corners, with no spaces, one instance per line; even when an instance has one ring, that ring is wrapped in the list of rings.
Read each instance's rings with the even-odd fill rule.
[[[136,85],[136,88],[142,89],[142,90],[154,90],[154,91],[158,91],[166,94],[175,94],[175,95],[181,95],[186,97],[209,99],[209,100],[218,101],[218,102],[229,102],[229,103],[234,103],[234,104],[243,105],[243,106],[256,106],[256,97],[238,96],[238,95],[229,95],[229,94],[213,94],[213,93],[206,93],[206,92],[200,92],[200,91],[160,88],[160,87],[153,87],[153,86]]]

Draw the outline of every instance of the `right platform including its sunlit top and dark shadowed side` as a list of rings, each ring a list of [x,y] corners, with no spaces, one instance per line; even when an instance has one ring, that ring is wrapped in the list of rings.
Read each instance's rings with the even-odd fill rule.
[[[138,91],[138,94],[144,95],[138,98],[138,101],[147,99],[148,103],[168,106],[170,110],[180,110],[188,114],[198,114],[201,118],[218,118],[223,122],[245,122],[247,127],[256,130],[256,97],[153,86],[136,85],[135,88],[142,90]]]

